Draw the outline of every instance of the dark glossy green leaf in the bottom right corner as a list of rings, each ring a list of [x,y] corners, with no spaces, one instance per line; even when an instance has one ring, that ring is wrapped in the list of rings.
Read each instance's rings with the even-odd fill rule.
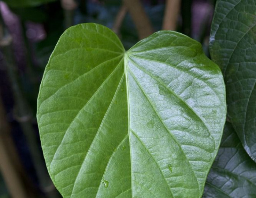
[[[256,197],[256,164],[243,149],[229,122],[207,177],[203,197]]]

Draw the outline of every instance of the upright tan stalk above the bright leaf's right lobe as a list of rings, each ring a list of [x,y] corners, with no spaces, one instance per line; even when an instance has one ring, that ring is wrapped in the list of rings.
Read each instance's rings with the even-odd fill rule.
[[[181,0],[166,0],[162,29],[176,30],[180,7]]]

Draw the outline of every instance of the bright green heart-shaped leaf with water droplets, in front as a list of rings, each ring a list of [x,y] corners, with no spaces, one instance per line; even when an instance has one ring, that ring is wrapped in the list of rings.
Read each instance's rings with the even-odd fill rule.
[[[80,24],[43,75],[38,124],[64,197],[200,197],[225,122],[221,71],[200,43],[160,31],[125,52]]]

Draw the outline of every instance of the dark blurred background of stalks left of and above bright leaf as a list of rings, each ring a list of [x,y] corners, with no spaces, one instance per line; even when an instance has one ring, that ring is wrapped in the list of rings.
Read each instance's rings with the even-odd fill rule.
[[[44,68],[66,28],[88,22],[105,25],[125,49],[150,32],[170,29],[199,41],[209,56],[215,0],[130,1],[141,5],[148,21],[125,2],[0,1],[0,198],[61,197],[46,170],[35,115]]]

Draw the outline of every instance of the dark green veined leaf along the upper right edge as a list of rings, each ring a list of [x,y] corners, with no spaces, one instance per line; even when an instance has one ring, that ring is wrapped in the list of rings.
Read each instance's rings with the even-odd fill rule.
[[[256,161],[256,1],[217,0],[211,58],[222,68],[227,113],[247,153]]]

